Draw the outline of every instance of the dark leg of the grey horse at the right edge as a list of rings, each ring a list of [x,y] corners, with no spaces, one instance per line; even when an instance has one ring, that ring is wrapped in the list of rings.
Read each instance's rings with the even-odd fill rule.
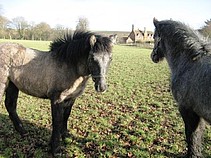
[[[205,122],[192,109],[181,106],[179,110],[185,123],[186,142],[188,144],[187,157],[202,157],[202,137]]]

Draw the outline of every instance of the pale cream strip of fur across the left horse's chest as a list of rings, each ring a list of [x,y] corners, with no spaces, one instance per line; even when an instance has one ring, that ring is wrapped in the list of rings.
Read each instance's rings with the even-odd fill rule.
[[[87,80],[88,78],[86,77],[79,77],[68,89],[65,89],[60,94],[59,101],[62,102],[69,98],[77,98],[83,93],[86,87]]]

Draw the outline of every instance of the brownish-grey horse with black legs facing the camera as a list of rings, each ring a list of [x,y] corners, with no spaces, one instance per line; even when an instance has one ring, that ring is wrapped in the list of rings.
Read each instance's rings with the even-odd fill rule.
[[[0,100],[6,92],[5,105],[15,129],[26,134],[16,112],[19,90],[50,99],[53,126],[50,147],[53,155],[59,153],[60,137],[68,134],[71,108],[90,76],[97,92],[106,90],[111,51],[108,37],[82,31],[56,39],[49,52],[14,43],[0,44]]]

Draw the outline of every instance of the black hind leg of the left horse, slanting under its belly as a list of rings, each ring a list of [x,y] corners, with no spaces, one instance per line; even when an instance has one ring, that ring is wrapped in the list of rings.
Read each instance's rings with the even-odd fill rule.
[[[15,129],[23,136],[26,134],[26,131],[23,128],[23,124],[16,112],[18,92],[18,88],[10,81],[6,89],[5,106],[9,113],[9,117],[15,126]]]

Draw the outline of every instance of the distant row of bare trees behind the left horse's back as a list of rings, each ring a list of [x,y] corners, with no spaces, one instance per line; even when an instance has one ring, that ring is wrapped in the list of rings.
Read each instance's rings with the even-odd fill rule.
[[[89,22],[87,18],[79,18],[76,29],[87,30]],[[51,28],[46,22],[35,24],[28,22],[24,17],[16,17],[12,20],[0,15],[0,38],[1,39],[25,39],[25,40],[45,40],[50,41],[65,33],[71,32],[72,29],[60,24]]]

